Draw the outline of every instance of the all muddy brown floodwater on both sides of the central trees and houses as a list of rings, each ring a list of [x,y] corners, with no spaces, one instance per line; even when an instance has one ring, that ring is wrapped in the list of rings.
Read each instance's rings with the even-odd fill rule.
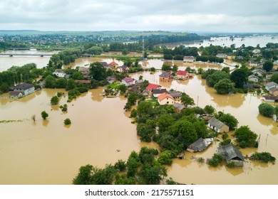
[[[73,67],[94,61],[95,58],[78,59]],[[109,63],[112,59],[103,61]],[[150,67],[162,65],[160,60],[148,62]],[[187,67],[183,63],[179,66],[180,69]],[[194,67],[221,69],[220,65]],[[132,77],[138,80],[140,75],[167,89],[186,92],[200,107],[211,104],[217,111],[233,114],[240,125],[249,125],[261,135],[261,139],[258,149],[241,149],[243,155],[269,151],[278,158],[277,123],[259,115],[260,97],[251,94],[217,95],[199,76],[169,83],[159,82],[160,72],[140,72]],[[158,148],[156,144],[140,142],[135,124],[131,124],[132,120],[123,112],[124,97],[104,98],[103,88],[90,90],[68,103],[68,112],[64,114],[58,105],[50,104],[56,92],[65,91],[43,89],[21,99],[0,99],[0,120],[22,120],[0,123],[0,184],[70,184],[82,165],[90,163],[104,167],[118,159],[126,160],[130,151],[139,151],[142,146]],[[66,97],[61,97],[59,104],[65,103]],[[41,119],[43,110],[49,114],[45,121]],[[31,121],[34,114],[36,122]],[[71,119],[69,127],[63,124],[66,118]],[[211,168],[195,161],[198,157],[210,158],[217,146],[215,141],[202,153],[186,152],[185,160],[175,159],[168,167],[168,176],[187,184],[278,184],[277,164],[247,161],[243,168]]]

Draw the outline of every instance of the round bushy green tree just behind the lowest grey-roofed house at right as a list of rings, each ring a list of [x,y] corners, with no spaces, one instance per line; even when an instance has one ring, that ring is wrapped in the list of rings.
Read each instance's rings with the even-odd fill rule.
[[[240,147],[254,147],[257,145],[257,134],[249,129],[248,126],[242,126],[235,131],[235,137],[240,142]]]

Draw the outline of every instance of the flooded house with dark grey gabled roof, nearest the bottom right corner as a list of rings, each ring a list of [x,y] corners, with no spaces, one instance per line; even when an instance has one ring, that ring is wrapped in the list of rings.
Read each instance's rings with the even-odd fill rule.
[[[235,145],[227,144],[225,146],[220,146],[217,148],[217,151],[225,158],[227,163],[235,163],[235,166],[243,166],[244,157]]]

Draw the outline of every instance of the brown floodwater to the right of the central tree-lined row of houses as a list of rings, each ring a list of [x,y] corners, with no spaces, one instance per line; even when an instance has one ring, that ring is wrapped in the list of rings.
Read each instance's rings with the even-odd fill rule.
[[[278,158],[278,123],[259,115],[258,106],[262,103],[261,97],[252,94],[217,95],[216,91],[212,87],[207,87],[205,80],[197,75],[185,81],[160,82],[158,76],[160,73],[140,72],[132,77],[138,80],[138,77],[143,75],[143,79],[160,84],[168,90],[173,88],[186,92],[200,107],[211,104],[217,111],[234,115],[239,120],[239,126],[248,125],[252,131],[261,136],[258,149],[241,149],[244,156],[254,151],[268,151]],[[232,132],[229,135],[233,139]],[[168,175],[175,181],[187,184],[278,184],[277,163],[272,165],[247,161],[243,168],[226,166],[211,168],[205,163],[195,161],[199,157],[205,159],[212,157],[217,151],[217,146],[218,142],[215,141],[202,153],[186,152],[185,160],[175,159],[173,165],[168,168]]]

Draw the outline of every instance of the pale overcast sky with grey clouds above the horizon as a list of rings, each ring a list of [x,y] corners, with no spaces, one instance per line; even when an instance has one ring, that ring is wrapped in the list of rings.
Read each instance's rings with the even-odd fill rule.
[[[0,29],[278,32],[277,9],[277,0],[0,0]]]

